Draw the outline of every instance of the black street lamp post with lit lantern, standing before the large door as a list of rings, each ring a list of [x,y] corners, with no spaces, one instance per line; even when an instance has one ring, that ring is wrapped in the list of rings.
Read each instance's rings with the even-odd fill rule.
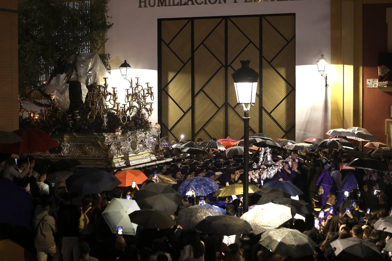
[[[249,67],[250,61],[240,61],[242,67],[233,74],[234,88],[236,90],[237,102],[242,104],[244,110],[244,174],[243,181],[243,212],[248,211],[248,189],[249,189],[249,110],[256,102],[257,81],[259,74]]]

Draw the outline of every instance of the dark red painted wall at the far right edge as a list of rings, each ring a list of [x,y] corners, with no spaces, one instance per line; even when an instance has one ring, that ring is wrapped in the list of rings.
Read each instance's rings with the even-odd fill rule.
[[[366,79],[378,77],[378,54],[387,52],[388,7],[392,7],[392,4],[363,5],[363,128],[384,143],[387,142],[385,120],[390,119],[392,92],[366,88]]]

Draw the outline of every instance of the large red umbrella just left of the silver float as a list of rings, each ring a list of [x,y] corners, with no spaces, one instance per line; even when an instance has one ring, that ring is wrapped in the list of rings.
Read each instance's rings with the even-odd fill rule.
[[[51,148],[58,147],[57,142],[43,130],[25,128],[13,132],[24,141],[2,146],[2,151],[22,155],[33,152],[46,152]]]

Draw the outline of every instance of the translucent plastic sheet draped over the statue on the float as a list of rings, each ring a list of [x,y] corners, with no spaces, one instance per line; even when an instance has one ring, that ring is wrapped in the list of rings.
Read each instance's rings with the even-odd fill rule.
[[[71,112],[83,107],[86,95],[94,85],[103,85],[107,70],[97,53],[74,54],[68,59],[69,66],[64,72],[51,78],[46,92],[56,96],[62,110]]]

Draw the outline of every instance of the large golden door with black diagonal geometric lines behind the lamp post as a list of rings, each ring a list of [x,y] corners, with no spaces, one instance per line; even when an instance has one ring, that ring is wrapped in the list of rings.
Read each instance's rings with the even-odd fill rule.
[[[159,19],[158,43],[158,121],[169,140],[243,136],[231,75],[246,59],[260,73],[250,133],[295,138],[294,14]]]

